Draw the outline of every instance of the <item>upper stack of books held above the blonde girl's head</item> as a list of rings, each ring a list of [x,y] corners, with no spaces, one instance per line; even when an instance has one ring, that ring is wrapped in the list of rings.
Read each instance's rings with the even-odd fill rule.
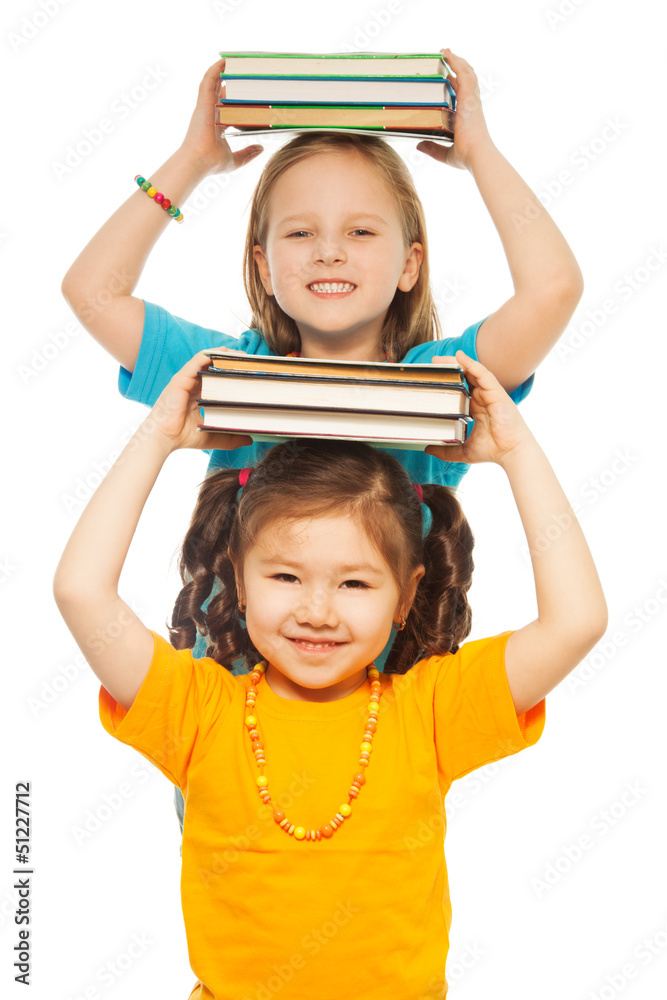
[[[456,95],[441,53],[221,52],[225,136],[341,129],[454,137]]]

